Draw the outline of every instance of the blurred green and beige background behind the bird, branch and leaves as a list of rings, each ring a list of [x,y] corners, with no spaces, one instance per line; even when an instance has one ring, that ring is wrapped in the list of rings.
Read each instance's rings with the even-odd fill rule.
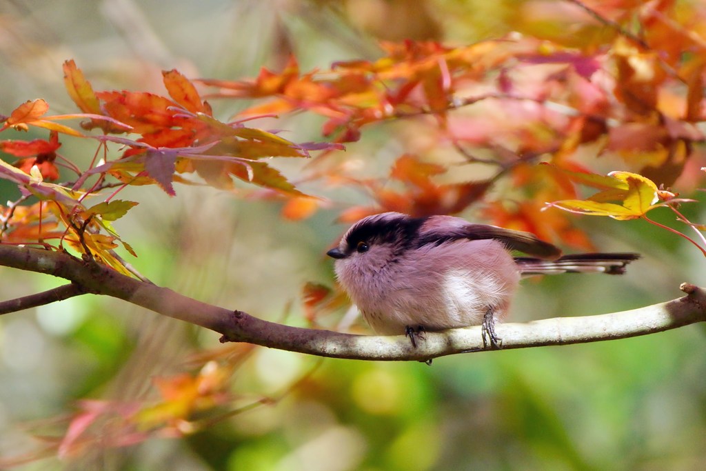
[[[97,89],[162,93],[162,69],[236,80],[261,66],[276,70],[292,53],[302,70],[374,59],[378,40],[465,44],[510,31],[570,36],[566,18],[577,14],[571,8],[510,0],[4,0],[0,113],[38,97],[53,113],[76,112],[62,82],[66,59],[75,59]],[[243,106],[213,105],[222,119]],[[320,124],[304,116],[277,121],[298,142],[320,140]],[[407,138],[402,125],[380,126],[335,158],[380,177]],[[61,148],[77,162],[88,162],[93,150],[76,140]],[[301,165],[282,168],[296,179]],[[282,218],[281,202],[209,187],[179,186],[174,198],[128,189],[124,198],[140,205],[116,227],[139,254],[133,264],[157,284],[304,326],[302,286],[333,285],[324,254],[345,229],[337,213],[371,203],[356,191],[305,189],[331,202],[297,222]],[[0,185],[0,198],[16,194]],[[704,220],[700,208],[684,210]],[[621,278],[530,280],[513,319],[632,309],[678,297],[682,281],[706,285],[700,253],[665,231],[639,221],[577,217],[576,224],[602,250],[645,256]],[[6,268],[0,277],[1,299],[60,283]],[[341,315],[321,323],[335,328]],[[239,363],[232,390],[242,405],[267,398],[263,404],[184,439],[95,446],[17,469],[706,469],[705,334],[703,326],[689,326],[616,342],[458,355],[433,366],[258,348]],[[1,316],[0,457],[37,457],[50,441],[36,436],[61,436],[62,417],[78,400],[148,400],[152,378],[191,371],[204,355],[228,348],[214,333],[100,297]]]

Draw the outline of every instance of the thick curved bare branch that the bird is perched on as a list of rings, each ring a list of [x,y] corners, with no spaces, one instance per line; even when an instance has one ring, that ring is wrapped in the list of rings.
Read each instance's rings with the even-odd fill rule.
[[[164,316],[222,334],[221,342],[249,342],[321,357],[368,360],[419,360],[484,348],[480,326],[425,333],[412,347],[399,336],[350,335],[329,330],[283,326],[185,297],[117,273],[94,261],[28,247],[0,245],[0,266],[30,270],[70,280],[84,292],[124,299]],[[601,316],[551,318],[496,326],[503,350],[544,345],[616,340],[662,332],[706,321],[706,290],[684,283],[685,297],[632,311]]]

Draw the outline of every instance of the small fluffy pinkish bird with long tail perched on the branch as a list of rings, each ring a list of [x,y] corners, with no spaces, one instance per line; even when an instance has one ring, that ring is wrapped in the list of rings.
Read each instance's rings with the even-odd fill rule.
[[[515,257],[520,251],[530,257]],[[638,254],[575,254],[530,232],[473,224],[460,217],[382,213],[350,227],[335,249],[337,279],[371,328],[415,337],[425,330],[494,326],[508,313],[523,275],[624,273]]]

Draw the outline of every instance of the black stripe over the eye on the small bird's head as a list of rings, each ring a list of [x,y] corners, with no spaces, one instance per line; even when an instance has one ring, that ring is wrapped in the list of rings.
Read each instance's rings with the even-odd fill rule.
[[[407,249],[419,238],[419,227],[426,217],[383,213],[355,223],[345,235],[346,252],[350,254],[359,242],[366,244],[393,244],[395,251]]]

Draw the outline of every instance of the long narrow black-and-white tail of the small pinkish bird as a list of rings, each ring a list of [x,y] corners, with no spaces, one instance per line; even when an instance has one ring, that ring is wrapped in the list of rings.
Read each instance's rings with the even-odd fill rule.
[[[557,275],[558,273],[607,273],[622,275],[626,266],[640,254],[573,254],[556,260],[517,257],[522,275]]]

